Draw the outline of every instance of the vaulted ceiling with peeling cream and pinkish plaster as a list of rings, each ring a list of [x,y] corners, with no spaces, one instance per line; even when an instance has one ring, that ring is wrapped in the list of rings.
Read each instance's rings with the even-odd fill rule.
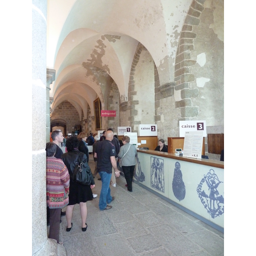
[[[131,63],[139,43],[151,54],[160,84],[173,81],[174,60],[191,0],[48,0],[47,68],[52,109],[68,100],[78,110],[93,110],[99,97],[105,109],[112,78],[127,101]]]

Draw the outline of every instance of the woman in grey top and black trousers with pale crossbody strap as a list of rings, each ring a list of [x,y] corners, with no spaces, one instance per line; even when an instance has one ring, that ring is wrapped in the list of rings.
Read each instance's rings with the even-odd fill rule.
[[[127,190],[132,192],[132,179],[134,175],[134,168],[136,165],[137,149],[134,145],[130,144],[130,137],[122,137],[123,146],[120,148],[118,158],[120,166],[125,174],[125,180],[127,182]]]

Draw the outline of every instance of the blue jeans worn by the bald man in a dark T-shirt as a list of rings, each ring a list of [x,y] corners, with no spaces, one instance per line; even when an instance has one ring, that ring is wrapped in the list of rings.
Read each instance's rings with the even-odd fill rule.
[[[102,179],[102,190],[99,196],[99,209],[102,211],[107,207],[107,203],[109,204],[112,201],[112,196],[110,195],[109,187],[111,173],[99,172],[99,176]]]

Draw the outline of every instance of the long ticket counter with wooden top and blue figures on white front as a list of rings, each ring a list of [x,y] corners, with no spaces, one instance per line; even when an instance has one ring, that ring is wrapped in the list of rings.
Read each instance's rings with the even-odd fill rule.
[[[224,162],[137,149],[133,181],[224,233]]]

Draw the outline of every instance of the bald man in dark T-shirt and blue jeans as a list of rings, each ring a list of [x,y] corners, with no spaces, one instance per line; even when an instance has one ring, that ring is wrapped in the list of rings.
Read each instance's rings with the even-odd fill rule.
[[[97,169],[99,176],[102,180],[102,189],[99,196],[99,209],[101,211],[111,209],[112,206],[108,204],[115,199],[111,196],[109,187],[112,167],[115,171],[116,177],[120,176],[120,172],[116,166],[116,149],[111,143],[114,137],[113,131],[107,131],[105,136],[106,139],[98,143],[94,153],[94,157],[97,158]]]

